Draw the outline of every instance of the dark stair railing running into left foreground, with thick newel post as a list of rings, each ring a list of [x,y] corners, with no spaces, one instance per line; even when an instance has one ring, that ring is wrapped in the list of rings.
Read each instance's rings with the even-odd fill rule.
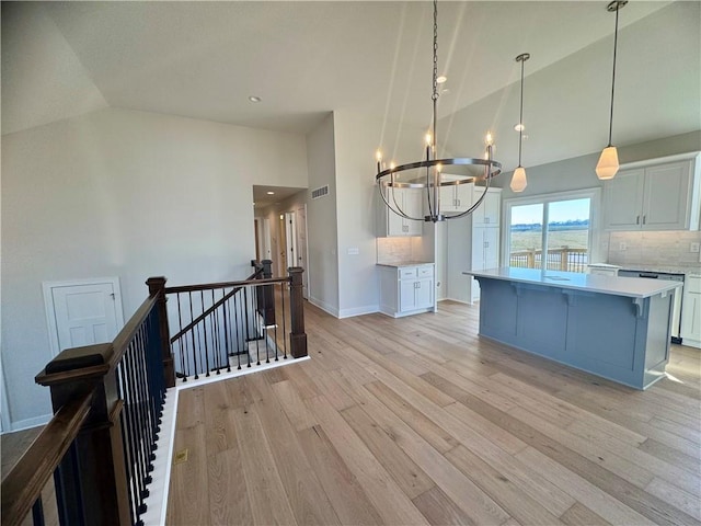
[[[140,525],[165,392],[175,385],[163,288],[112,343],[68,348],[36,377],[54,418],[2,481],[2,524],[44,524],[51,474],[61,525]],[[165,336],[165,338],[164,338]]]

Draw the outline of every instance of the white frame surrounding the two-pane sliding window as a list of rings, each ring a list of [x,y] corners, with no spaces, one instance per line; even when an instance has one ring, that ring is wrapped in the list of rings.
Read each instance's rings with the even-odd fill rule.
[[[529,195],[525,197],[512,197],[508,199],[504,199],[502,207],[502,225],[504,225],[504,236],[502,236],[502,254],[501,254],[501,264],[502,266],[508,266],[510,260],[510,251],[512,251],[512,208],[514,206],[522,206],[522,205],[543,205],[543,231],[541,243],[543,250],[548,250],[548,206],[547,204],[555,203],[559,201],[571,201],[571,199],[589,199],[589,238],[588,238],[588,251],[589,251],[589,263],[596,263],[601,260],[600,256],[600,210],[601,210],[601,188],[583,188],[583,190],[571,190],[566,192],[553,192],[550,194],[537,194]],[[545,259],[543,258],[543,265],[545,264]],[[541,268],[542,270],[542,268]]]

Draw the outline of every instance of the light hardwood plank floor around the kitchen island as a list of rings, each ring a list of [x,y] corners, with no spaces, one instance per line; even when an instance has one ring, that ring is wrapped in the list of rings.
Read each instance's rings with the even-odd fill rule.
[[[701,351],[642,392],[439,310],[307,306],[311,361],[181,391],[168,524],[701,524]]]

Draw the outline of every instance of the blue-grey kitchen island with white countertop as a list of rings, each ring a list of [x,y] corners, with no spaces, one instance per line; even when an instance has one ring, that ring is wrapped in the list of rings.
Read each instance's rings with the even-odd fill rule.
[[[502,267],[480,283],[480,335],[645,389],[665,377],[676,282]]]

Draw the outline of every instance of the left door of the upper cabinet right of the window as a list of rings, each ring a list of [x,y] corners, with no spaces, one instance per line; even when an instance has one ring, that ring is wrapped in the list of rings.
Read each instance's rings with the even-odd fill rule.
[[[604,228],[640,230],[645,170],[621,170],[604,187]]]

